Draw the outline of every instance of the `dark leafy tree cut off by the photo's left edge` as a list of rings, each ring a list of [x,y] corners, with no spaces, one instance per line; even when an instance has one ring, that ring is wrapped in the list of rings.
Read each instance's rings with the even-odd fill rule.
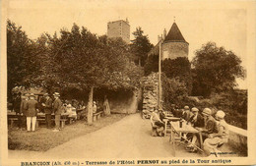
[[[7,74],[8,98],[16,85],[28,84],[27,77],[38,70],[36,57],[33,56],[33,42],[22,27],[7,21]]]

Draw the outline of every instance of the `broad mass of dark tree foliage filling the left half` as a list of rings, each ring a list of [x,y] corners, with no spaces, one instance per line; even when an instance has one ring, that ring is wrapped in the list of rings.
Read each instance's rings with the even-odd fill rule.
[[[8,21],[8,83],[36,84],[50,91],[89,87],[134,88],[142,69],[128,59],[120,38],[97,36],[76,24],[60,35],[41,34],[35,41]]]

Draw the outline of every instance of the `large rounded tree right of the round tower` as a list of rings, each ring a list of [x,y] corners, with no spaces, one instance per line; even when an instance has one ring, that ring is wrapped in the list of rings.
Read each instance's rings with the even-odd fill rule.
[[[195,95],[209,96],[213,91],[232,89],[236,78],[245,78],[240,58],[215,42],[208,42],[195,53],[192,60]]]

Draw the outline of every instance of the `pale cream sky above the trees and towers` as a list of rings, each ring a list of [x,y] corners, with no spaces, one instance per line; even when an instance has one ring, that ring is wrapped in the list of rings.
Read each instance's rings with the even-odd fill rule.
[[[235,2],[235,3],[233,3]],[[232,50],[246,69],[248,42],[248,4],[245,1],[169,1],[169,0],[58,0],[9,1],[7,18],[22,26],[30,38],[42,32],[53,34],[73,23],[102,35],[107,23],[129,20],[132,32],[141,27],[153,44],[158,35],[171,28],[174,20],[189,42],[189,60],[202,44],[214,41]],[[246,80],[237,80],[246,88]]]

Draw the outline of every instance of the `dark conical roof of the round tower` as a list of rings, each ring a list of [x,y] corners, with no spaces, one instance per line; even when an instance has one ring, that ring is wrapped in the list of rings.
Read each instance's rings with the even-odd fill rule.
[[[182,33],[180,32],[178,26],[176,23],[173,23],[171,28],[169,29],[168,34],[164,38],[164,41],[181,41],[181,42],[187,42],[185,38],[183,37]]]

